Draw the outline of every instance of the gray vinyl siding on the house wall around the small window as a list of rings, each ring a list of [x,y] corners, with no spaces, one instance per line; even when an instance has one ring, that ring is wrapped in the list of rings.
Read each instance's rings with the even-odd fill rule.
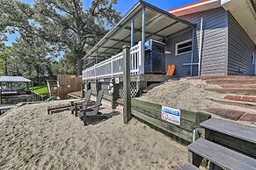
[[[194,32],[194,63],[198,63],[199,43],[200,43],[200,26],[201,18],[203,19],[203,42],[201,54],[201,75],[225,75],[227,59],[227,11],[223,8],[216,8],[208,11],[201,11],[186,16],[181,16],[196,24]],[[175,48],[175,43],[192,38],[190,34],[179,34],[176,37],[168,39],[167,46]],[[183,66],[183,63],[190,63],[191,53],[175,56],[175,49],[172,55],[166,56],[166,65],[176,64],[177,70],[175,75],[187,76],[190,66]],[[193,66],[193,75],[197,75],[198,66]]]

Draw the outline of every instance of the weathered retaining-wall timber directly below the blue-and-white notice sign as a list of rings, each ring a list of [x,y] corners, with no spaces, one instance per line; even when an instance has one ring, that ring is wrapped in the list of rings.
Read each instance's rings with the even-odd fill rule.
[[[131,110],[131,111],[132,111],[132,115],[134,115],[135,117],[141,118],[145,122],[148,122],[149,124],[152,124],[157,128],[160,128],[172,135],[175,135],[176,137],[182,138],[188,142],[192,142],[193,134],[190,131],[183,130],[175,125],[167,124],[165,122],[157,120],[156,118],[149,117],[137,110]]]

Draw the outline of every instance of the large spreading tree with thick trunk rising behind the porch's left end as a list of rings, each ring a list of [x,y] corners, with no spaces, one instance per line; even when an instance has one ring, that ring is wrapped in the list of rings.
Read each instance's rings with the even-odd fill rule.
[[[120,19],[120,12],[113,9],[117,0],[92,0],[83,7],[82,0],[37,0],[33,6],[18,0],[0,0],[0,30],[19,32],[23,39],[33,35],[46,40],[48,46],[71,53],[82,74],[85,49],[94,46],[106,33],[106,25]]]

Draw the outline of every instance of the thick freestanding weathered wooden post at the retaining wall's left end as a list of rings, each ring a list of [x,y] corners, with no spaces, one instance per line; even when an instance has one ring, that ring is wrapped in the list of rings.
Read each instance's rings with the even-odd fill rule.
[[[130,47],[123,46],[123,122],[128,124],[131,119],[131,91],[130,91]]]

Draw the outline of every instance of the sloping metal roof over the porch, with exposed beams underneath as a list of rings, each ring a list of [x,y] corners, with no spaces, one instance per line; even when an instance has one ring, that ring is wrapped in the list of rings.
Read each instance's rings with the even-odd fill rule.
[[[122,46],[131,43],[131,22],[134,23],[134,42],[142,39],[143,9],[145,9],[145,39],[162,40],[174,32],[179,32],[195,25],[163,11],[156,6],[140,0],[111,31],[91,48],[83,59],[106,60],[106,58],[120,53]]]

